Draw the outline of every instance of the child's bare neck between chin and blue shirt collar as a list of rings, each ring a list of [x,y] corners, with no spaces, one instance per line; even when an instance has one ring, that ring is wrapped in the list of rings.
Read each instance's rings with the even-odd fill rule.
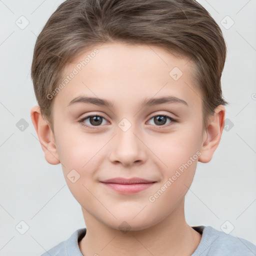
[[[184,217],[184,200],[154,226],[143,230],[121,232],[106,226],[82,208],[86,219],[86,235],[79,242],[87,255],[161,255],[190,256],[201,240],[201,234],[190,227]]]

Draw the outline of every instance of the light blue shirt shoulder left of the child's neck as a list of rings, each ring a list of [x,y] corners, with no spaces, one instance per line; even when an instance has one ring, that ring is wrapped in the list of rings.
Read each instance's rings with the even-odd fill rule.
[[[68,239],[45,251],[41,256],[82,256],[78,241],[85,235],[85,233],[86,228],[77,229]]]

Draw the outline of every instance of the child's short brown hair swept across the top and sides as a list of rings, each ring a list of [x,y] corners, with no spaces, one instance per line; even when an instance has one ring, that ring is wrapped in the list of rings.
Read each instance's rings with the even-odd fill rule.
[[[221,29],[195,0],[66,0],[37,37],[31,77],[41,113],[53,131],[53,100],[65,65],[103,42],[158,45],[189,57],[202,93],[203,124],[222,98],[226,45]]]

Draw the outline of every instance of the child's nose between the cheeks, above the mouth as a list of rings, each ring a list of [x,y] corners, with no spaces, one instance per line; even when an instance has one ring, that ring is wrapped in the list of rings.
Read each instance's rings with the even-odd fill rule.
[[[134,125],[126,131],[117,127],[117,134],[111,141],[108,159],[113,163],[121,163],[125,166],[144,162],[146,159],[146,146],[141,136],[137,133]]]

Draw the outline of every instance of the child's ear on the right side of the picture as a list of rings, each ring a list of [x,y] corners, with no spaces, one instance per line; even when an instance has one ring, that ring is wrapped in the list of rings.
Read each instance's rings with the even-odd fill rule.
[[[203,131],[201,145],[201,155],[198,157],[200,162],[209,162],[217,148],[224,128],[225,108],[219,105],[215,108],[214,114],[210,115],[207,129]]]

